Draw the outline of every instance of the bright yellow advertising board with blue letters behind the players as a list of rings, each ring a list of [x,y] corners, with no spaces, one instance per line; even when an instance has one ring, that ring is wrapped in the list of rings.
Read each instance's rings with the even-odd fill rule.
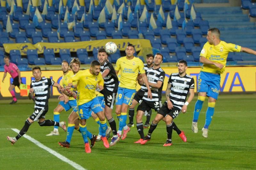
[[[169,75],[171,73],[177,73],[178,68],[163,68],[165,71],[164,87],[163,91],[166,90]],[[187,74],[191,75],[195,80],[195,87],[197,89],[197,77],[200,72],[200,68],[188,68]],[[0,78],[4,72],[0,72]],[[62,85],[62,71],[42,71],[42,76],[53,79],[54,81]],[[32,71],[21,72],[22,83],[29,85],[31,80],[33,80]],[[2,97],[11,97],[11,94],[8,90],[12,78],[8,73],[4,83],[1,82],[1,96]],[[138,85],[137,89],[140,89]],[[195,91],[197,91],[195,89]],[[255,92],[256,91],[256,67],[226,67],[226,71],[221,74],[220,81],[220,92]],[[20,96],[20,89],[15,87],[15,92],[17,96]],[[60,95],[57,88],[52,87],[51,93],[53,96]]]

